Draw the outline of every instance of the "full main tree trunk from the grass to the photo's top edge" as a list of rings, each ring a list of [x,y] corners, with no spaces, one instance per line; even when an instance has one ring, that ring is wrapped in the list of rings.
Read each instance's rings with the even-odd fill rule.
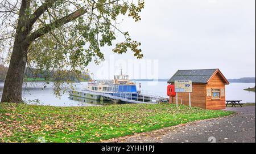
[[[20,5],[13,52],[5,79],[5,86],[3,87],[1,102],[23,102],[22,85],[27,63],[27,50],[30,44],[24,41],[29,32],[26,29],[28,24],[26,9],[30,8],[30,2],[31,0],[22,0]]]

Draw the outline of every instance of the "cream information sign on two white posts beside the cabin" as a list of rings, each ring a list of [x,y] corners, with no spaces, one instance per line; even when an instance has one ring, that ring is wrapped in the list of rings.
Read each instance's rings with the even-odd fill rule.
[[[176,105],[178,106],[178,93],[187,93],[189,95],[189,109],[191,108],[191,92],[192,92],[192,81],[191,80],[177,80],[175,81],[175,92],[176,92]],[[182,99],[182,98],[181,98]]]

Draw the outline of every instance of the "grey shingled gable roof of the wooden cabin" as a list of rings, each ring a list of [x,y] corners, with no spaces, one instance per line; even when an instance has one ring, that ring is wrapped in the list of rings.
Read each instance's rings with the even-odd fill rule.
[[[205,70],[178,70],[168,83],[174,83],[175,80],[192,80],[192,83],[207,84],[213,74],[219,71],[218,69],[205,69]],[[221,72],[220,72],[221,74]],[[222,74],[221,74],[222,75]],[[223,76],[224,80],[226,78]],[[228,80],[226,80],[228,83]]]

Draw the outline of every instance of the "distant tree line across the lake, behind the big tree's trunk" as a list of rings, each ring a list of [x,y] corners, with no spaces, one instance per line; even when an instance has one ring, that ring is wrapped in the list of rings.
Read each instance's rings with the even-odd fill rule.
[[[0,65],[0,82],[4,82],[8,67]],[[24,80],[44,79],[46,81],[53,80],[69,80],[75,82],[88,81],[90,75],[88,72],[72,72],[72,71],[46,71],[26,67],[24,71]]]

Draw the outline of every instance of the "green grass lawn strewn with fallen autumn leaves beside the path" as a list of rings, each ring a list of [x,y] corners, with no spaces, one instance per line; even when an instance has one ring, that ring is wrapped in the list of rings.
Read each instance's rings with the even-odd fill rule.
[[[0,142],[100,142],[233,114],[169,104],[53,107],[0,103]]]

